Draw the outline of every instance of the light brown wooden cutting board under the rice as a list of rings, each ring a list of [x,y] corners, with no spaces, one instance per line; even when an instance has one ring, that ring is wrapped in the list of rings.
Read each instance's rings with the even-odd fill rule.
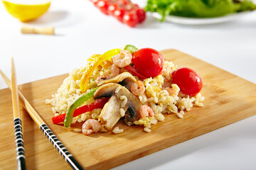
[[[256,114],[256,85],[252,82],[177,50],[161,53],[178,67],[190,67],[201,75],[201,94],[206,99],[203,108],[193,107],[182,119],[166,115],[163,122],[152,126],[150,133],[139,126],[128,127],[122,121],[118,126],[124,132],[118,135],[99,132],[85,136],[80,132],[82,124],[73,128],[53,125],[53,113],[45,101],[68,74],[23,84],[19,89],[85,169],[110,169]],[[11,91],[2,89],[0,94],[0,169],[16,169]],[[71,169],[28,113],[23,110],[22,115],[27,169]]]

